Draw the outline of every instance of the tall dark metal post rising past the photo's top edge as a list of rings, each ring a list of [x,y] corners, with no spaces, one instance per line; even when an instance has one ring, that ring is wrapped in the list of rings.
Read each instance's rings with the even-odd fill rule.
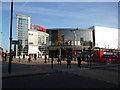
[[[13,0],[11,0],[11,18],[10,18],[10,57],[8,65],[8,73],[11,73],[11,61],[12,61],[12,19],[13,19]]]

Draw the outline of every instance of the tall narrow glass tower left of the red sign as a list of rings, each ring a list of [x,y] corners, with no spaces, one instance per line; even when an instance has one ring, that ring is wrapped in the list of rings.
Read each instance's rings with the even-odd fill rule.
[[[19,45],[17,55],[28,53],[28,29],[30,27],[30,17],[17,14],[17,40]]]

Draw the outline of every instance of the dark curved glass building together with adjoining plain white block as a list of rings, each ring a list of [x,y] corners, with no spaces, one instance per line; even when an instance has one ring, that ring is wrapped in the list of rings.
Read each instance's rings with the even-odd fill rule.
[[[89,29],[53,28],[47,29],[49,34],[49,54],[76,55],[89,51],[92,47],[120,49],[118,29],[92,26]]]

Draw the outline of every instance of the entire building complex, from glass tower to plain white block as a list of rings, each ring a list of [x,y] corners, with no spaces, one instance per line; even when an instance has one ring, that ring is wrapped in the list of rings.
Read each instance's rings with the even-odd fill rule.
[[[118,49],[118,29],[92,26],[80,28],[49,28],[31,24],[31,17],[17,14],[16,56],[74,55],[92,47]]]

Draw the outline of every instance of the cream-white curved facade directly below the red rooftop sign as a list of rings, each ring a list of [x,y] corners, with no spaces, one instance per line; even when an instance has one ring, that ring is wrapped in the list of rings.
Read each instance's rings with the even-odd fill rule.
[[[49,34],[43,31],[28,31],[28,55],[44,56],[46,46],[48,46]]]

